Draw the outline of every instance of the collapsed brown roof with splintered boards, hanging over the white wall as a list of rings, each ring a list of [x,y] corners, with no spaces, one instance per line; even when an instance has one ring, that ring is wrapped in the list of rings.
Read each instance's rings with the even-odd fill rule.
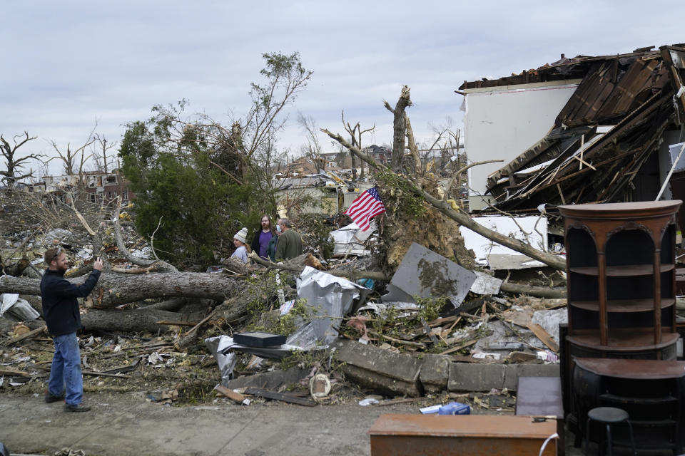
[[[615,56],[577,56],[460,89],[582,78],[554,127],[487,180],[503,210],[542,203],[618,202],[659,150],[665,130],[685,122],[685,43]]]

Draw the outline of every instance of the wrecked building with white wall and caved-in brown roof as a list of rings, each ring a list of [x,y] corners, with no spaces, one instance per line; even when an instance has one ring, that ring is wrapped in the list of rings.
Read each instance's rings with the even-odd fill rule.
[[[472,210],[655,199],[684,141],[685,44],[465,82]],[[685,157],[683,158],[685,160]],[[666,197],[670,197],[667,192]]]

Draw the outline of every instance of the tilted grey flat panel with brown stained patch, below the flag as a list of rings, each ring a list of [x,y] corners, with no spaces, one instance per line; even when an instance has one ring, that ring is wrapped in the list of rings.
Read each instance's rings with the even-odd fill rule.
[[[475,280],[472,271],[413,242],[390,284],[410,296],[447,296],[458,307]]]

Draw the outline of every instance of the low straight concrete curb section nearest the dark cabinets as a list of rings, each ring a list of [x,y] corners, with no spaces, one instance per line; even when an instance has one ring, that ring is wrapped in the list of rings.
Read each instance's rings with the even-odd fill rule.
[[[450,391],[489,391],[492,388],[516,390],[519,376],[559,376],[559,365],[452,363],[447,389]]]

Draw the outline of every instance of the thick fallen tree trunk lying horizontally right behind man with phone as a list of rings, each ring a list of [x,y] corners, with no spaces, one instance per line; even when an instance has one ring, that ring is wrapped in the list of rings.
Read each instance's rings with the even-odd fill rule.
[[[81,284],[85,277],[74,279]],[[94,306],[110,308],[150,298],[206,298],[224,301],[238,290],[238,282],[222,274],[167,272],[141,276],[102,274],[93,289]],[[40,281],[0,277],[0,293],[41,294]]]

